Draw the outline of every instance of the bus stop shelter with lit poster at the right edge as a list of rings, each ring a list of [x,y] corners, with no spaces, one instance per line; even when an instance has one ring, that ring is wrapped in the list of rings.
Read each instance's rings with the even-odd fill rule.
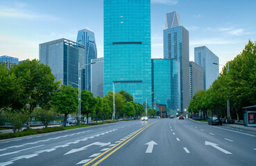
[[[256,105],[250,107],[244,107],[244,126],[256,127]]]

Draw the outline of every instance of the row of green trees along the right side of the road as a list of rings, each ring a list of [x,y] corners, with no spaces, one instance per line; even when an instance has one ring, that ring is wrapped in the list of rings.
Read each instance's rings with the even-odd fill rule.
[[[229,69],[229,70],[228,70]],[[243,107],[256,104],[256,43],[249,40],[244,50],[225,64],[219,77],[207,91],[198,91],[192,98],[188,110],[196,113],[200,109],[227,117],[227,100],[230,100],[231,118],[241,120]]]

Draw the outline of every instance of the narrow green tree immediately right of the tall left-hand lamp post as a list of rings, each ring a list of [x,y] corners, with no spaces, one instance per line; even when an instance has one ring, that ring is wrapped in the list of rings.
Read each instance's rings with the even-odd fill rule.
[[[97,100],[91,91],[81,91],[81,113],[86,115],[87,123],[89,122],[89,113],[94,113],[96,104]]]

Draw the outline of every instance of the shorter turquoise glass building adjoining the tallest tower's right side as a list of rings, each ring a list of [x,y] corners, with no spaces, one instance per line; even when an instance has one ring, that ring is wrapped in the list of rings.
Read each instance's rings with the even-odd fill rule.
[[[152,59],[152,102],[180,111],[180,62]]]

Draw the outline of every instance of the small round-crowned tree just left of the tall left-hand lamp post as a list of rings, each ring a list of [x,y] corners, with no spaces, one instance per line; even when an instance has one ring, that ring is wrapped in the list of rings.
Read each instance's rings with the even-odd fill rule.
[[[53,93],[52,104],[59,113],[65,115],[64,126],[67,124],[67,115],[78,111],[78,91],[71,85],[62,84],[60,91]]]

